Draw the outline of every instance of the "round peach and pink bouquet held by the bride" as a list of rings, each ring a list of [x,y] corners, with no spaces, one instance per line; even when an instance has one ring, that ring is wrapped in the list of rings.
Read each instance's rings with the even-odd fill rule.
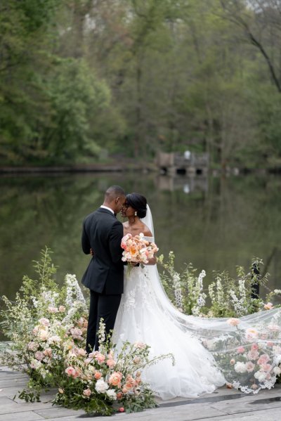
[[[143,233],[139,235],[126,234],[122,238],[121,247],[124,249],[122,261],[146,264],[159,250],[155,242],[145,240]]]

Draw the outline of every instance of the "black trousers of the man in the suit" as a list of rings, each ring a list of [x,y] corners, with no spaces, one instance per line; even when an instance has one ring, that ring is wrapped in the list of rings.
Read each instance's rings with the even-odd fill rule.
[[[98,350],[98,328],[100,319],[105,323],[108,334],[114,328],[117,311],[121,301],[121,294],[105,295],[91,290],[90,311],[86,339],[86,351]]]

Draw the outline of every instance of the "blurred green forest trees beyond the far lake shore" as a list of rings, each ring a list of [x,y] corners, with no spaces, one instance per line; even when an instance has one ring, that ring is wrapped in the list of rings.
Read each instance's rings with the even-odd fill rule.
[[[0,164],[281,167],[280,0],[4,0]]]

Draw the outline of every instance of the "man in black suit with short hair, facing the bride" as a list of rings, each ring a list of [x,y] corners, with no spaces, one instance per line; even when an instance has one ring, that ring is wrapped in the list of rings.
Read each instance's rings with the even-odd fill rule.
[[[107,188],[103,205],[86,216],[83,222],[82,249],[85,254],[93,250],[93,257],[82,278],[82,284],[91,292],[87,352],[98,350],[100,318],[104,320],[107,333],[115,325],[124,287],[123,226],[116,219],[116,214],[121,211],[125,200],[123,188]]]

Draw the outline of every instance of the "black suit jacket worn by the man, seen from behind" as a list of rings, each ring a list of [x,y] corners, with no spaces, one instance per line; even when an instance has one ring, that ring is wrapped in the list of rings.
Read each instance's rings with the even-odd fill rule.
[[[122,294],[124,264],[121,240],[123,226],[114,214],[100,207],[86,216],[83,222],[82,249],[85,254],[94,252],[82,284],[100,294]]]

